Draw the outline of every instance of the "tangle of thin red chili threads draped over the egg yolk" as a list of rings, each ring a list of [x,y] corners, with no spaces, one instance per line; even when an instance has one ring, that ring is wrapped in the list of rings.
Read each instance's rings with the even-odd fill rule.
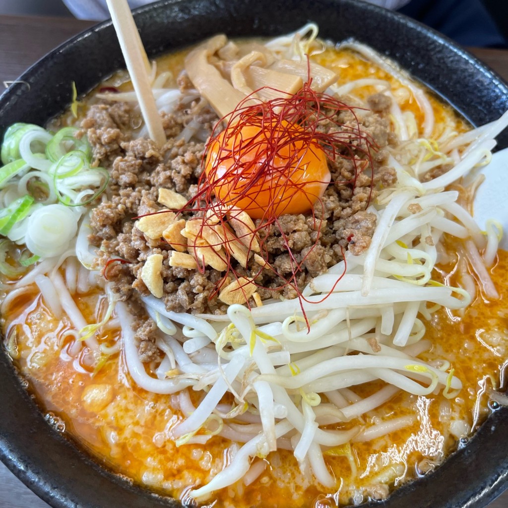
[[[269,89],[275,90],[273,88]],[[259,90],[256,90],[253,93],[257,93],[258,91]],[[280,92],[280,90],[275,91]],[[306,150],[315,150],[316,147],[325,151],[330,162],[334,162],[336,158],[342,157],[353,163],[354,176],[350,180],[332,181],[330,184],[352,184],[354,187],[358,176],[367,168],[372,168],[371,151],[376,151],[377,145],[371,136],[363,132],[361,129],[359,119],[355,114],[355,109],[362,108],[348,106],[326,93],[315,92],[310,87],[310,81],[305,83],[297,93],[287,98],[272,99],[267,102],[256,102],[255,104],[252,104],[252,101],[253,99],[251,96],[246,97],[231,114],[221,118],[217,122],[202,157],[201,166],[203,171],[198,181],[198,191],[195,197],[190,199],[184,208],[174,211],[178,214],[199,214],[201,216],[199,236],[203,233],[205,228],[210,226],[213,228],[219,227],[223,230],[222,237],[224,239],[220,238],[217,242],[210,244],[209,248],[213,249],[217,246],[226,247],[224,250],[221,250],[220,253],[217,251],[215,252],[217,253],[217,256],[224,261],[227,269],[224,276],[216,283],[215,290],[213,294],[210,295],[210,298],[218,294],[224,284],[231,280],[231,278],[238,281],[240,277],[245,275],[243,269],[240,270],[239,268],[235,268],[235,266],[238,266],[239,263],[231,255],[231,247],[228,248],[228,245],[231,245],[231,243],[235,240],[239,241],[242,237],[250,237],[250,243],[247,247],[247,258],[249,259],[252,253],[252,241],[255,237],[258,240],[261,249],[261,251],[257,253],[263,258],[265,266],[259,266],[259,270],[257,270],[257,272],[252,271],[253,267],[250,268],[250,275],[254,279],[253,283],[258,285],[260,288],[264,288],[261,284],[257,284],[255,279],[261,275],[263,269],[266,268],[271,270],[282,281],[282,283],[277,288],[264,289],[278,292],[284,288],[291,287],[298,295],[301,302],[302,312],[305,316],[303,302],[309,302],[309,300],[301,294],[301,291],[298,288],[298,276],[305,273],[305,261],[312,250],[316,247],[317,240],[309,249],[308,253],[301,259],[300,262],[298,262],[297,255],[289,246],[288,238],[279,224],[278,217],[269,213],[270,209],[275,209],[276,193],[273,191],[275,190],[275,187],[282,190],[286,190],[288,188],[290,190],[295,190],[301,189],[303,185],[305,185],[293,182],[289,176],[291,175],[292,168],[298,167],[298,160],[301,154],[305,153]],[[353,114],[356,125],[344,125],[338,122],[336,116],[341,111],[350,111]],[[220,162],[230,160],[232,157],[239,158],[245,153],[252,155],[252,162],[249,165],[242,166],[241,168],[235,168],[233,175],[228,174],[227,172],[222,177],[215,179],[213,176],[216,175],[212,175],[212,178],[210,178],[210,176],[205,174],[206,154],[218,135],[222,132],[220,125],[223,123],[226,124],[225,129],[227,134],[225,136],[225,140],[228,138],[235,140],[236,138],[240,139],[240,143],[238,143],[238,146],[233,143],[233,148],[231,150],[225,149],[223,146],[223,150],[219,152],[219,157],[216,160],[215,166],[217,166]],[[319,129],[320,126],[325,124],[330,127],[328,132],[323,132]],[[260,130],[258,134],[250,139],[243,140],[241,137],[241,130],[246,125],[256,126],[260,128]],[[298,126],[298,129],[295,128],[295,125]],[[302,143],[303,148],[293,150],[292,152],[290,150],[290,156],[287,157],[283,167],[277,168],[270,165],[273,157],[282,148],[291,148],[291,146],[295,146],[295,143],[297,142]],[[242,176],[245,175],[248,176],[248,179],[242,179]],[[256,193],[256,187],[261,187],[263,189],[266,187],[270,190],[272,193],[271,195],[274,196],[274,198],[272,203],[266,207],[263,218],[258,220],[258,226],[255,226],[255,228],[252,229],[249,225],[245,224],[243,220],[238,217],[241,214],[241,210],[235,212],[235,214],[228,214],[228,211],[231,206],[234,205],[234,202],[221,201],[214,193],[214,188],[221,183],[221,180],[226,181],[230,188],[234,188],[235,185],[238,185],[243,194],[249,194],[249,191]],[[372,195],[372,189],[373,177],[371,178],[369,201]],[[257,192],[259,193],[259,190]],[[287,199],[291,199],[294,192],[293,194],[291,192],[284,194],[289,196]],[[249,198],[253,203],[256,203],[256,194],[253,196],[249,195]],[[309,211],[312,215],[314,230],[317,232],[316,237],[318,239],[323,226],[323,220],[318,218],[315,214],[315,210],[319,209],[319,206],[321,206],[321,210],[324,211],[324,205],[321,199],[318,199],[313,206],[309,199]],[[215,224],[211,223],[210,217],[215,218]],[[245,235],[240,235],[240,238],[238,238],[236,234],[233,234],[233,238],[228,239],[229,234],[233,230],[233,219],[243,222],[243,224],[248,227],[249,231],[245,233]],[[287,250],[291,259],[292,273],[289,277],[285,277],[283,274],[278,273],[268,263],[269,253],[264,245],[264,242],[268,237],[268,232],[272,226],[279,230],[284,248]],[[264,232],[265,234],[260,235],[261,232]],[[348,239],[348,241],[350,240]],[[190,240],[188,241],[188,248],[189,250],[194,250],[196,259],[198,259],[198,251],[196,250],[197,247],[198,245],[193,244]],[[342,247],[341,253],[342,258],[344,258],[344,250]],[[198,270],[201,273],[205,271],[204,258],[202,258],[201,264],[198,263]],[[339,282],[344,273],[345,267],[344,272],[338,276],[332,290],[328,292],[327,295],[324,295],[320,302],[325,300],[334,291],[336,284]],[[245,295],[243,290],[244,285],[245,284],[240,283],[238,290],[242,291]]]

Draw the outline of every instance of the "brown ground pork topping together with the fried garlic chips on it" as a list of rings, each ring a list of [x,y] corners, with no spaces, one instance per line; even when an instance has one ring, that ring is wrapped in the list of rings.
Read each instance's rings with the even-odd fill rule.
[[[180,81],[185,91],[186,81]],[[386,118],[389,99],[376,94],[369,100],[379,114],[365,112],[357,118],[345,109],[334,121],[318,125],[327,132],[337,121],[345,131],[360,128],[373,141],[373,181],[338,153],[330,163],[331,183],[314,209],[281,215],[267,228],[241,210],[224,210],[230,219],[220,228],[214,217],[203,218],[203,212],[173,213],[192,202],[202,172],[205,144],[178,136],[197,104],[164,113],[168,142],[162,149],[150,140],[134,139],[130,125],[136,124],[135,113],[128,105],[92,106],[83,120],[82,133],[97,163],[111,174],[107,199],[91,213],[90,241],[98,247],[102,266],[111,259],[125,261],[107,270],[120,298],[138,300],[151,293],[162,297],[168,310],[220,314],[231,303],[256,306],[267,298],[295,298],[312,277],[341,261],[345,249],[359,255],[368,248],[376,216],[366,208],[376,187],[396,180],[384,150],[393,143]],[[198,116],[211,134],[217,120],[213,112],[200,106]],[[369,150],[362,139],[353,145],[359,153]],[[238,280],[228,276],[225,260],[234,264]],[[302,268],[296,276],[295,263]],[[155,346],[144,333],[138,331],[138,338],[140,354],[149,361],[156,348],[152,351],[150,343]]]

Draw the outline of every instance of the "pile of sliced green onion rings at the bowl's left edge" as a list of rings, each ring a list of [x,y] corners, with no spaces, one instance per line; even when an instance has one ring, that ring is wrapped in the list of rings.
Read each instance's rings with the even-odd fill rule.
[[[5,186],[4,202],[10,204],[0,209],[0,235],[27,247],[8,263],[0,253],[0,270],[11,277],[16,269],[11,263],[26,268],[65,250],[85,211],[76,207],[92,203],[108,185],[108,171],[90,168],[91,146],[86,137],[76,137],[78,132],[69,126],[53,134],[28,123],[13,124],[6,132],[0,189]]]

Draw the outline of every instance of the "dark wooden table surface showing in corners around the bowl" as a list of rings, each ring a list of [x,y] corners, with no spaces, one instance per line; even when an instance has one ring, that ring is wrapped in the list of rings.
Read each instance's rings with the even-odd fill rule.
[[[0,16],[0,85],[15,80],[49,50],[92,24],[72,18]],[[508,50],[470,50],[508,81]],[[489,508],[507,507],[508,491],[489,505]],[[49,505],[0,462],[0,508],[49,508]]]

